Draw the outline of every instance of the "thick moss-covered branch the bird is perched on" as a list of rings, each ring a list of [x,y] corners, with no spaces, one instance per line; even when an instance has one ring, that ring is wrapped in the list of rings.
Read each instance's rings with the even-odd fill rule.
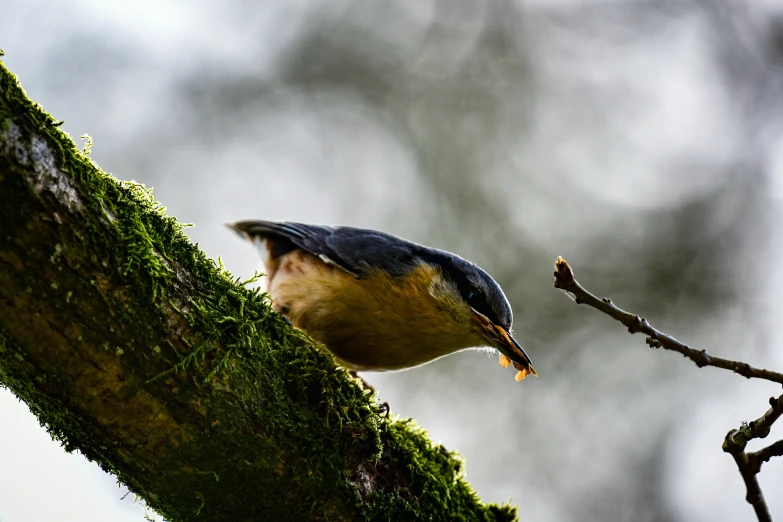
[[[0,63],[0,384],[172,521],[513,520]]]

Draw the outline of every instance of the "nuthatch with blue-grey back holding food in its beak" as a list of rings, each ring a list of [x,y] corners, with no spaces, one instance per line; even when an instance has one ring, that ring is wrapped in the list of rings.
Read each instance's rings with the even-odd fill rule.
[[[511,336],[500,286],[455,254],[353,227],[229,227],[261,251],[274,308],[349,370],[402,370],[490,346],[503,366],[513,361],[517,380],[537,375]]]

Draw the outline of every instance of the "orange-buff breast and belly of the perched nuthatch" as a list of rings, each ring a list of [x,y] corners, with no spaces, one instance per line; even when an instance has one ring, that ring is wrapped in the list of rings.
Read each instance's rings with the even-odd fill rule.
[[[357,279],[296,250],[279,258],[269,280],[275,308],[354,370],[399,370],[483,344],[432,293],[438,271],[427,265],[405,277],[377,271]]]

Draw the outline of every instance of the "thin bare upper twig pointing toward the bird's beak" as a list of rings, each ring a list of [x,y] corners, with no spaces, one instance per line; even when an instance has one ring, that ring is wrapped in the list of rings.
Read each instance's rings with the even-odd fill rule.
[[[555,262],[555,288],[564,290],[571,294],[574,301],[577,304],[584,304],[591,306],[596,310],[605,313],[609,317],[616,319],[628,328],[628,332],[643,333],[647,335],[647,344],[652,348],[664,348],[666,350],[673,350],[679,352],[685,357],[696,363],[696,366],[703,368],[704,366],[714,366],[715,368],[723,368],[724,370],[731,370],[734,373],[747,377],[748,379],[764,379],[767,381],[783,384],[783,373],[773,372],[771,370],[765,370],[762,368],[754,368],[748,363],[740,361],[732,361],[731,359],[724,359],[722,357],[715,357],[707,353],[706,350],[697,350],[690,346],[681,343],[671,335],[665,334],[660,330],[654,328],[643,317],[639,317],[636,314],[626,312],[612,303],[611,299],[604,297],[603,299],[596,297],[582,285],[580,285],[574,278],[574,272],[569,266],[568,262],[562,257],[558,257]]]

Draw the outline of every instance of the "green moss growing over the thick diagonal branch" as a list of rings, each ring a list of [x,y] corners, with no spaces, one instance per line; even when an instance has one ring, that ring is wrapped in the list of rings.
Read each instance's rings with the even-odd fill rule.
[[[123,306],[106,312],[102,336],[76,324],[73,338],[95,347],[90,353],[101,361],[115,357],[124,386],[132,382],[137,395],[149,395],[149,408],[165,404],[145,422],[171,441],[147,452],[115,442],[116,433],[104,433],[106,423],[90,412],[42,393],[36,372],[63,386],[70,377],[41,373],[27,360],[28,347],[0,330],[0,383],[67,450],[78,448],[172,521],[241,520],[239,513],[270,520],[515,519],[511,507],[481,503],[458,454],[434,445],[413,422],[380,415],[375,399],[323,348],[271,309],[268,295],[246,288],[193,245],[149,189],[102,172],[0,64],[0,129],[11,122],[20,141],[45,139],[82,207],[78,238],[52,241],[46,253],[50,264],[72,269],[51,276],[62,278],[63,288],[52,281],[44,289],[35,278],[20,284],[31,299],[46,295],[74,310],[90,302],[90,285],[118,289]],[[0,157],[0,172],[26,175],[10,154]],[[27,213],[9,209],[0,217],[26,230],[30,205]],[[77,255],[78,267],[68,266]],[[67,279],[85,273],[90,285]],[[123,390],[118,384],[117,395]]]

